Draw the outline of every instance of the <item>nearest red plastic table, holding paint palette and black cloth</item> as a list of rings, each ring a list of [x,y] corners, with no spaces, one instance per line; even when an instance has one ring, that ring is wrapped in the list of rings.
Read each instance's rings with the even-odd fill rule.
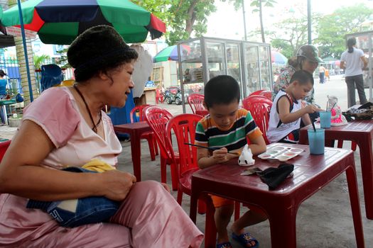
[[[357,247],[364,247],[353,152],[325,147],[324,155],[310,155],[306,145],[274,143],[268,147],[278,145],[304,150],[297,157],[288,161],[294,164],[293,176],[283,181],[279,188],[269,190],[259,176],[240,176],[245,167],[240,167],[237,159],[201,169],[192,176],[190,218],[195,222],[198,197],[205,196],[207,193],[250,203],[263,209],[269,218],[272,248],[296,247],[296,213],[299,205],[346,171]],[[255,167],[261,169],[277,167],[279,164],[280,162],[255,158]],[[205,239],[205,247],[214,247],[216,236],[211,233],[207,235],[207,232],[215,232],[215,230],[212,228],[206,230],[206,236],[209,239]]]

